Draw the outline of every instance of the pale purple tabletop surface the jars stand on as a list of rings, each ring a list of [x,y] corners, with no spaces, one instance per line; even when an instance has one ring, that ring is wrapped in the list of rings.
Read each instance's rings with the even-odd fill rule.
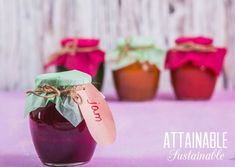
[[[0,93],[0,167],[43,166],[23,118],[24,94]],[[107,96],[117,124],[113,145],[98,146],[84,167],[234,167],[235,92],[215,94],[211,101],[175,101],[161,94],[149,102],[118,102]],[[166,131],[227,131],[228,149],[221,161],[167,161]]]

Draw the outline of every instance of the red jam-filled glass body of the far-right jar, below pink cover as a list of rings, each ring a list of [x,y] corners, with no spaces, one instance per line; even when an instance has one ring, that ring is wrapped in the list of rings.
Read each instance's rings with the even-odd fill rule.
[[[214,92],[216,79],[210,69],[190,63],[171,71],[171,82],[178,99],[209,99]]]

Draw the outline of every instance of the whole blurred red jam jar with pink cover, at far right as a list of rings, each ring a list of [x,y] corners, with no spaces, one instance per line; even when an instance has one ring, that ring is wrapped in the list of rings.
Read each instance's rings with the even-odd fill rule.
[[[225,48],[213,46],[206,37],[182,37],[167,52],[165,67],[178,99],[209,99],[223,68]]]

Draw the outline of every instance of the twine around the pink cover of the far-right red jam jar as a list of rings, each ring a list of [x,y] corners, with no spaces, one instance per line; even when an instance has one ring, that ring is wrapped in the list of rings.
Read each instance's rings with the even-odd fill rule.
[[[181,44],[177,44],[173,51],[181,51],[181,52],[189,52],[189,51],[196,51],[196,52],[215,52],[216,48],[213,45],[202,45],[196,44],[193,42],[185,42]]]

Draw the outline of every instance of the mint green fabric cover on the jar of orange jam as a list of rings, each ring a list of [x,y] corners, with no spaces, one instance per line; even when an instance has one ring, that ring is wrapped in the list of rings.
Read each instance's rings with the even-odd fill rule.
[[[109,60],[113,62],[113,69],[117,70],[135,62],[149,62],[159,69],[164,67],[165,51],[156,48],[148,37],[129,37],[118,40],[117,47],[110,52]]]

